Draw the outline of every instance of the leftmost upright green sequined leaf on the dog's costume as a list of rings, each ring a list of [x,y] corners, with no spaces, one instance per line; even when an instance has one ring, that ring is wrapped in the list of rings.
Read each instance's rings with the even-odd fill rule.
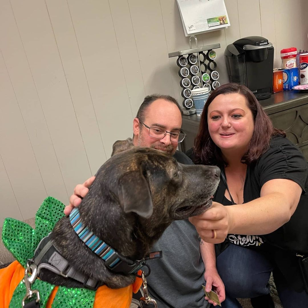
[[[2,228],[2,241],[20,264],[33,257],[34,230],[26,223],[6,218]]]

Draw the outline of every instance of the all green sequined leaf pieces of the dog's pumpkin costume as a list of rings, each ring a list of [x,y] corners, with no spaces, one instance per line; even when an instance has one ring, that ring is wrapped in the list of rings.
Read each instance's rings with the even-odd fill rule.
[[[13,218],[6,218],[3,223],[2,240],[7,249],[23,265],[34,255],[39,241],[48,235],[57,221],[64,216],[64,204],[53,197],[47,197],[35,215],[35,230],[28,224]],[[41,301],[39,307],[46,306],[48,298],[55,286],[36,279],[32,290],[39,290]],[[14,291],[10,308],[20,307],[26,294],[24,283],[20,282]],[[81,288],[59,287],[52,304],[53,308],[91,308],[93,307],[95,291]]]

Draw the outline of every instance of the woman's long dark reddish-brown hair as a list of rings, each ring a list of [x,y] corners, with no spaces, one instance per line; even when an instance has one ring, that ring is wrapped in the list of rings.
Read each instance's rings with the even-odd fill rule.
[[[226,165],[222,158],[221,150],[213,142],[209,134],[208,128],[208,108],[220,94],[238,93],[245,97],[247,106],[253,114],[254,131],[250,140],[248,151],[244,154],[241,161],[245,164],[255,162],[270,146],[270,139],[272,136],[282,134],[284,137],[286,133],[282,130],[273,127],[269,116],[263,111],[260,103],[253,95],[253,93],[245,86],[237,83],[226,83],[212,92],[207,99],[200,119],[199,131],[194,143],[194,157],[195,164],[205,165]]]

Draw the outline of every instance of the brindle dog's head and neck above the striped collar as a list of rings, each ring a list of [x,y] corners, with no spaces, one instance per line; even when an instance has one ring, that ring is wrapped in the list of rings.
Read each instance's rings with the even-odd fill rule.
[[[130,248],[132,242],[142,243],[147,250],[172,221],[211,206],[219,183],[217,167],[183,165],[162,151],[135,147],[130,140],[116,142],[113,154],[79,208],[90,229],[112,241],[118,251],[127,242]],[[136,246],[130,248],[129,255],[136,256]]]

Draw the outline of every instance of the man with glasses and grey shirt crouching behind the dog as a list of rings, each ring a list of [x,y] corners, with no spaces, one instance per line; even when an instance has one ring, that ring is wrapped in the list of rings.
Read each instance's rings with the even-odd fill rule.
[[[168,95],[148,95],[133,120],[133,144],[165,151],[182,164],[193,164],[183,152],[176,151],[186,136],[181,125],[182,111],[176,99]],[[86,195],[93,180],[94,177],[76,186],[75,195],[65,209],[66,215],[80,204],[79,196]],[[224,285],[216,270],[215,255],[206,247],[207,243],[202,240],[199,243],[197,231],[188,220],[173,221],[165,230],[152,247],[152,251],[162,250],[163,257],[147,261],[151,268],[148,289],[158,308],[209,307],[201,287],[205,285],[205,266],[207,291],[213,284],[221,290],[224,299]]]

